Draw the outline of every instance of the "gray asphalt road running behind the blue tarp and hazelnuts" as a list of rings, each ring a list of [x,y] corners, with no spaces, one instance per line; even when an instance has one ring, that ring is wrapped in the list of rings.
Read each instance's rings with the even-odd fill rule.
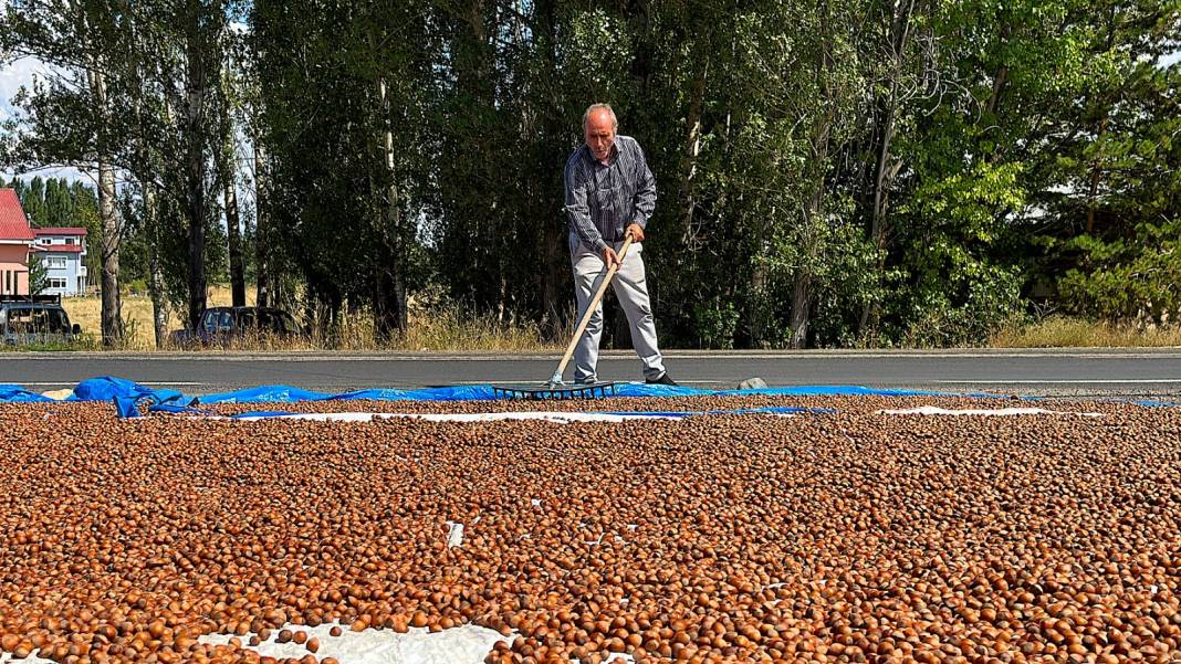
[[[350,353],[5,353],[0,383],[37,392],[120,376],[185,394],[259,384],[322,392],[465,383],[536,384],[555,355]],[[987,392],[1049,396],[1181,395],[1181,349],[939,351],[670,351],[670,375],[683,384],[723,389],[753,376],[770,386],[860,384],[875,388]],[[640,380],[631,351],[605,353],[602,380]],[[567,373],[567,377],[569,373]]]

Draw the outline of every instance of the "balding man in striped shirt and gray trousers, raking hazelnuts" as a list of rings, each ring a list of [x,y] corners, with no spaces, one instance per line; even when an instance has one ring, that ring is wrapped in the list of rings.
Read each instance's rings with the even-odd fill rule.
[[[566,215],[570,226],[570,263],[579,320],[592,294],[607,274],[619,265],[612,285],[632,328],[632,344],[644,363],[648,383],[677,384],[665,372],[657,348],[647,282],[644,278],[644,228],[657,204],[657,183],[635,139],[616,136],[619,121],[608,104],[594,104],[582,116],[586,144],[566,162]],[[619,250],[631,235],[632,245],[620,263]],[[574,382],[599,380],[599,340],[602,337],[602,305],[587,323],[574,349]]]

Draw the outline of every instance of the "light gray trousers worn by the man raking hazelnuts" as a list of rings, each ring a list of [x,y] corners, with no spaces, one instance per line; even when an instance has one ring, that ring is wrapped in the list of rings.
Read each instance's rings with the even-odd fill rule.
[[[614,249],[618,252],[624,246],[622,242],[616,242]],[[627,256],[611,285],[615,289],[619,304],[627,315],[627,324],[632,329],[632,344],[635,354],[644,363],[644,379],[657,380],[664,375],[664,357],[657,347],[657,324],[652,317],[652,304],[648,301],[648,285],[644,277],[644,245],[632,243],[627,250]],[[607,276],[607,265],[602,261],[602,254],[583,245],[578,236],[570,235],[570,264],[574,268],[574,294],[579,303],[579,315],[576,321],[581,321],[590,303],[590,298],[599,289],[603,277]],[[587,329],[574,347],[574,380],[576,382],[589,382],[598,380],[596,367],[599,364],[599,341],[602,338],[602,303],[595,308],[594,315],[587,323]]]

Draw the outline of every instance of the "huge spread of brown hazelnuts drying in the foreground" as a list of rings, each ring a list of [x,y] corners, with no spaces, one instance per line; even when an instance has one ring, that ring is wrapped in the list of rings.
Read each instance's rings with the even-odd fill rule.
[[[994,406],[542,406],[830,409],[621,423],[0,406],[0,650],[337,664],[302,626],[476,624],[504,635],[492,663],[1177,660],[1181,409],[879,413],[920,403]],[[272,635],[306,656],[252,650]]]

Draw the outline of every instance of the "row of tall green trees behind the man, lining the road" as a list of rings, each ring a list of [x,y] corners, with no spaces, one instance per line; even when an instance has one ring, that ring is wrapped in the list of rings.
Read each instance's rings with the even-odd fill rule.
[[[226,269],[188,166],[216,188],[213,151],[241,134],[266,149],[244,243],[269,252],[285,304],[331,327],[420,289],[560,335],[562,169],[582,111],[608,101],[658,180],[645,261],[665,346],[981,343],[1035,284],[1082,316],[1181,315],[1181,70],[1157,65],[1179,46],[1174,1],[198,5],[208,39],[181,6],[56,0],[11,5],[0,37],[74,77],[18,96],[0,156],[110,155],[130,175],[123,270],[145,280],[155,249],[174,300],[189,224],[209,274]],[[89,48],[61,39],[67,8]],[[189,55],[223,63],[209,136],[183,121]],[[109,116],[80,65],[109,74]],[[20,186],[35,223],[68,209],[98,246],[90,190]]]

